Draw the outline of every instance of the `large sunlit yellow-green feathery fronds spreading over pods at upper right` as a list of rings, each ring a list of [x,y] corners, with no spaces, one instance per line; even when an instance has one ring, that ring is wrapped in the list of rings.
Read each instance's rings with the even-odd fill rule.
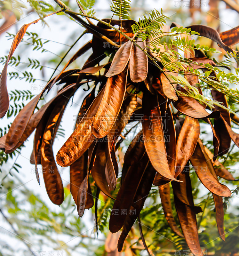
[[[136,26],[134,25],[134,27]],[[145,30],[141,29],[141,31]],[[181,33],[184,33],[185,37],[181,37],[179,35]],[[147,30],[147,33],[144,33],[141,38],[146,39],[147,37],[149,37],[150,41],[147,40],[147,49],[144,49],[144,51],[149,52],[149,54],[153,56],[150,57],[151,60],[158,60],[161,62],[161,64],[163,65],[163,70],[165,70],[164,72],[171,81],[171,84],[180,84],[187,90],[187,92],[177,91],[179,95],[192,97],[199,102],[206,104],[211,109],[213,109],[214,105],[216,105],[228,110],[228,108],[220,104],[220,102],[212,101],[211,99],[201,95],[198,90],[195,87],[191,86],[183,76],[184,72],[187,70],[193,76],[198,76],[201,82],[202,89],[206,88],[211,90],[211,88],[213,88],[214,90],[223,92],[228,98],[230,98],[234,102],[238,102],[239,90],[228,86],[228,83],[232,85],[236,85],[238,83],[238,70],[235,69],[235,73],[237,76],[234,73],[226,73],[224,70],[222,70],[222,68],[230,69],[233,64],[233,61],[231,61],[231,59],[233,60],[233,58],[236,57],[237,53],[227,52],[227,54],[224,55],[225,60],[221,61],[220,63],[215,61],[215,63],[217,64],[217,66],[215,67],[211,66],[210,64],[204,64],[203,67],[206,67],[207,70],[204,70],[203,72],[197,69],[193,69],[190,67],[190,60],[187,60],[186,58],[184,58],[183,55],[181,55],[182,52],[189,52],[197,49],[203,51],[208,58],[210,58],[211,55],[215,53],[221,53],[216,49],[210,48],[206,45],[195,45],[195,40],[189,40],[187,37],[187,35],[190,36],[194,34],[195,32],[191,31],[190,28],[186,29],[183,27],[175,27],[171,29],[171,32],[163,32],[160,31],[160,28],[155,27],[155,30],[153,28],[151,31]],[[181,53],[179,52],[179,50],[181,51]],[[215,59],[213,58],[213,60]],[[179,76],[171,76],[170,74],[168,74],[168,72],[177,73],[179,74]],[[216,75],[216,77],[214,74]],[[232,110],[229,111],[233,112]]]

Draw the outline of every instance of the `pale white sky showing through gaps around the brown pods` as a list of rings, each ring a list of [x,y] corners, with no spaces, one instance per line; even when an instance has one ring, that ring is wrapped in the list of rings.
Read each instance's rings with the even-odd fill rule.
[[[26,2],[26,1],[24,1]],[[48,1],[48,3],[52,4],[53,1]],[[74,1],[71,1],[74,2]],[[176,4],[179,1],[176,0],[171,0],[171,1],[147,1],[147,9],[151,10],[153,8],[155,9],[160,9],[163,8],[168,10],[168,9],[172,9],[172,8],[176,8],[174,6],[176,6]],[[54,3],[54,2],[53,2]],[[139,1],[140,3],[140,1]],[[185,3],[185,1],[184,1]],[[136,6],[138,7],[138,5]],[[203,10],[208,11],[209,7],[206,4],[205,6],[202,7]],[[235,27],[239,24],[239,15],[230,9],[226,9],[226,5],[224,2],[220,2],[220,8],[221,8],[221,12],[220,12],[220,19],[221,19],[221,28],[222,30],[227,30],[230,29],[232,27]],[[110,17],[110,12],[109,12],[109,1],[104,1],[104,0],[98,0],[97,1],[97,5],[95,7],[96,9],[96,16],[98,18],[108,18]],[[187,14],[188,10],[187,7],[183,7],[183,11]],[[138,10],[138,15],[140,14],[141,10],[139,8]],[[166,12],[164,14],[166,15],[172,15],[171,16],[171,20],[175,21],[177,23],[180,23],[180,20],[177,18],[177,15],[179,15],[179,13],[177,13],[177,9],[175,9],[175,11],[171,10],[170,12]],[[12,28],[10,28],[8,30],[8,32],[15,34],[16,31],[25,23],[31,22],[35,19],[37,19],[37,15],[35,13],[30,13],[30,14],[25,14],[23,16],[23,18],[21,20],[19,20],[14,26],[12,26]],[[0,25],[2,24],[2,20],[0,20]],[[82,27],[80,27],[78,24],[76,24],[73,21],[70,21],[67,17],[63,16],[63,15],[53,15],[51,17],[46,18],[46,22],[49,24],[49,27],[45,26],[44,28],[42,27],[41,22],[38,22],[37,24],[33,24],[28,28],[28,32],[36,32],[39,34],[39,37],[44,38],[44,39],[48,39],[48,40],[53,40],[58,43],[53,43],[53,42],[49,42],[47,44],[44,45],[44,47],[55,53],[55,54],[61,54],[63,55],[63,53],[61,52],[63,49],[65,49],[66,51],[66,46],[63,44],[67,44],[67,45],[71,45],[74,40],[84,31],[84,29]],[[192,20],[190,18],[185,19],[184,20],[184,26],[187,26],[191,23]],[[202,20],[202,24],[203,24],[203,20]],[[5,37],[6,33],[4,33],[3,35],[0,36],[0,42],[1,42],[1,48],[0,48],[0,56],[4,56],[4,55],[8,55],[12,40],[7,40],[7,38]],[[27,38],[27,37],[24,37]],[[76,46],[72,49],[72,51],[69,53],[69,57],[72,56],[74,54],[74,51],[77,50],[80,46],[82,46],[85,42],[87,42],[88,40],[91,39],[90,35],[85,35],[77,44]],[[67,46],[68,47],[68,46]],[[43,60],[46,59],[51,59],[52,57],[54,57],[54,54],[51,52],[44,52],[41,53],[41,51],[32,51],[33,47],[30,47],[28,50],[26,48],[26,46],[24,45],[24,43],[21,43],[18,47],[18,49],[16,50],[16,52],[14,53],[14,56],[17,56],[18,54],[20,54],[21,56],[21,61],[27,60],[27,57],[30,57],[32,59],[37,59],[41,62],[42,65],[46,65],[49,66],[51,68],[54,68],[56,66],[55,63],[53,64],[44,64]],[[87,53],[88,55],[89,53]],[[68,57],[68,58],[69,58]],[[60,59],[59,59],[60,60]],[[67,59],[68,60],[68,59]],[[82,66],[82,59],[78,60],[76,63],[78,63],[79,67]],[[0,65],[0,68],[3,68],[3,65]],[[18,68],[18,67],[17,67]],[[34,77],[39,78],[39,79],[43,79],[43,80],[48,80],[52,74],[53,69],[51,68],[44,68],[44,78],[42,76],[42,72],[39,71],[39,69],[37,70],[30,70]],[[26,68],[27,69],[27,68]],[[9,67],[8,68],[8,72],[18,72],[16,69]],[[41,80],[36,80],[34,83],[28,83],[25,82],[24,80],[19,80],[19,79],[12,79],[11,81],[7,82],[7,87],[8,87],[8,91],[10,92],[13,89],[19,89],[19,90],[30,90],[33,94],[38,94],[40,92],[40,87],[41,85],[45,84],[44,81]],[[38,89],[35,90],[34,88],[37,87]],[[49,93],[49,96],[53,95],[56,91],[52,90],[51,94]],[[69,135],[73,132],[73,127],[74,127],[74,123],[75,123],[75,118],[73,115],[77,115],[78,113],[78,109],[80,108],[81,105],[81,101],[84,98],[82,95],[82,91],[76,93],[76,95],[74,96],[73,99],[73,103],[71,106],[71,102],[69,102],[68,107],[65,111],[64,117],[62,119],[62,124],[63,124],[63,128],[66,130],[66,137],[65,139],[62,137],[57,138],[54,141],[54,154],[56,155],[57,151],[60,149],[60,147],[63,145],[63,143],[65,142],[65,140],[69,137]],[[10,102],[11,103],[11,102]],[[5,117],[3,119],[0,120],[0,127],[4,127],[6,126],[8,123],[10,122],[10,119],[7,120]],[[45,187],[44,187],[44,181],[43,181],[43,177],[42,174],[40,173],[40,182],[41,182],[41,187],[38,185],[37,181],[36,181],[36,177],[35,177],[35,173],[32,172],[34,166],[31,165],[29,163],[29,158],[31,155],[31,151],[33,148],[33,137],[34,137],[34,133],[29,137],[28,141],[25,143],[25,148],[22,148],[21,150],[21,155],[18,157],[17,163],[20,164],[22,166],[22,169],[20,169],[20,174],[17,174],[15,171],[13,171],[14,175],[19,175],[19,177],[24,180],[24,181],[28,181],[27,183],[27,187],[29,189],[33,189],[35,192],[37,192],[41,198],[49,205],[49,207],[51,207],[51,209],[53,211],[58,211],[59,206],[56,206],[54,204],[51,203],[50,199],[47,196]],[[14,161],[14,160],[13,160]],[[8,169],[8,167],[12,166],[13,161],[9,161],[7,166],[3,166],[2,169]],[[39,166],[40,167],[40,166]],[[60,166],[59,166],[60,167]],[[40,170],[40,168],[39,168]],[[64,168],[64,171],[61,172],[61,176],[62,176],[62,180],[63,180],[63,184],[64,186],[66,186],[69,182],[69,167]],[[0,174],[0,177],[1,174]],[[13,177],[14,180],[14,177]],[[231,188],[229,186],[229,188]],[[235,198],[235,200],[233,201],[238,205],[238,198]],[[88,211],[86,211],[88,212]],[[73,214],[77,215],[77,211],[75,211]],[[89,214],[85,214],[84,217],[82,218],[83,221],[89,221]],[[1,219],[0,219],[1,221]],[[74,256],[74,255],[72,255]]]

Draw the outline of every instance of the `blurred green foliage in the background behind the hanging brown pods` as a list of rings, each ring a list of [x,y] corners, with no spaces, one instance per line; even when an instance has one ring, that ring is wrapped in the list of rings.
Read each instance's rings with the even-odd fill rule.
[[[140,1],[133,1],[132,6],[137,6]],[[92,15],[94,10],[92,9],[95,1],[81,1],[80,2],[85,9],[87,9],[88,14]],[[93,4],[92,4],[93,3]],[[139,3],[139,6],[144,9],[145,4]],[[73,10],[78,9],[78,6],[71,6]],[[3,12],[12,11],[19,20],[23,15],[25,10],[34,10],[38,13],[40,17],[43,17],[48,12],[53,12],[55,7],[44,1],[28,0],[28,6],[25,3],[17,0],[8,0],[0,2],[0,18],[3,18]],[[107,16],[112,15],[108,13]],[[133,17],[134,14],[131,15]],[[178,15],[178,19],[181,19],[182,23],[185,14]],[[60,21],[59,21],[60,22]],[[12,34],[9,34],[11,37]],[[27,33],[25,37],[27,47],[34,46],[33,50],[44,51],[43,45],[49,41],[46,39],[41,39],[37,34]],[[29,42],[31,44],[29,44]],[[36,48],[35,48],[36,47]],[[61,52],[62,53],[62,52]],[[60,55],[62,55],[59,53]],[[0,58],[0,62],[4,63],[5,57]],[[28,74],[31,74],[29,70],[33,68],[44,67],[40,64],[38,60],[28,59],[27,62],[21,63],[20,56],[18,58],[13,58],[10,65],[17,66],[19,64],[25,65],[28,68]],[[46,55],[46,63],[55,64],[58,63],[59,58],[48,58]],[[25,64],[24,64],[25,63]],[[62,65],[64,65],[64,61]],[[21,77],[18,74],[18,77]],[[34,77],[26,77],[26,79],[34,79]],[[31,99],[32,94],[28,91],[12,91],[10,93],[11,101],[13,102],[12,108],[22,108],[23,106],[18,103],[19,100]],[[238,112],[238,104],[231,98],[228,98],[229,107]],[[16,104],[16,105],[15,105]],[[19,111],[20,111],[19,109]],[[11,109],[9,110],[8,117],[16,115],[19,111],[15,112]],[[235,125],[236,128],[238,126]],[[1,127],[1,136],[3,136],[9,128]],[[207,136],[207,131],[202,131],[204,133],[204,143],[207,144],[209,148],[212,145],[211,137]],[[63,133],[61,135],[64,135]],[[113,206],[113,200],[107,198],[106,196],[100,194],[98,200],[98,233],[99,238],[97,238],[96,227],[95,227],[95,205],[89,211],[89,220],[83,220],[78,218],[76,207],[74,201],[70,195],[68,187],[65,188],[65,200],[58,210],[51,210],[52,207],[47,205],[44,200],[41,199],[40,195],[37,195],[33,190],[29,189],[27,184],[24,184],[24,180],[20,179],[22,174],[22,169],[19,164],[17,164],[17,157],[20,154],[20,149],[17,149],[12,154],[6,155],[3,151],[0,151],[0,209],[1,209],[1,223],[0,224],[0,255],[12,256],[16,253],[16,247],[12,241],[17,240],[17,243],[23,243],[21,249],[18,249],[17,255],[37,255],[36,253],[41,252],[41,250],[48,250],[45,248],[50,248],[51,250],[64,251],[66,255],[107,255],[104,251],[104,240],[108,236],[108,219],[109,212]],[[121,149],[122,150],[122,149]],[[122,151],[119,153],[119,158],[122,155]],[[9,158],[12,159],[9,161]],[[239,172],[237,170],[239,162],[238,149],[232,147],[226,156],[222,156],[219,159],[225,167],[234,173],[235,178],[239,178]],[[9,162],[15,161],[12,167],[8,166]],[[19,174],[17,173],[19,172]],[[223,242],[218,238],[218,231],[216,226],[215,218],[215,207],[213,203],[213,198],[211,193],[206,193],[204,187],[199,182],[193,170],[190,171],[190,177],[193,187],[193,195],[195,199],[195,204],[200,205],[203,208],[203,213],[197,215],[198,227],[199,227],[199,238],[201,246],[207,255],[233,255],[234,253],[239,253],[239,206],[232,203],[233,198],[224,199],[225,207],[225,217],[224,226],[226,233],[226,242]],[[92,182],[92,180],[90,180]],[[220,178],[220,182],[229,184]],[[238,182],[230,182],[233,188],[232,197],[238,197]],[[120,179],[118,179],[117,188],[120,186]],[[116,188],[116,191],[117,191]],[[44,188],[42,188],[44,189]],[[97,188],[92,186],[92,193],[95,196]],[[115,191],[115,193],[116,193]],[[114,195],[113,195],[114,196]],[[171,200],[173,205],[173,194],[171,191]],[[234,200],[235,202],[236,200]],[[238,201],[238,200],[237,200]],[[173,207],[173,213],[177,224],[179,222],[176,218],[176,210]],[[1,215],[1,214],[0,214]],[[174,234],[164,217],[162,205],[158,195],[157,187],[153,186],[149,197],[146,200],[144,209],[141,212],[141,221],[143,226],[143,233],[146,239],[146,243],[151,251],[155,255],[167,256],[167,255],[190,255],[188,251],[187,244],[185,240],[176,234]],[[6,218],[4,218],[4,216]],[[91,228],[93,227],[93,228]],[[11,235],[5,229],[12,232],[13,238],[7,239],[6,237]],[[17,230],[17,234],[14,229]],[[91,228],[89,230],[89,228]],[[130,244],[133,246],[135,244],[140,244],[139,241],[139,230],[138,222],[136,221],[134,225],[134,232],[136,234],[136,239],[131,240],[131,237],[127,238]],[[3,236],[4,235],[4,236]],[[6,236],[6,237],[5,237]],[[127,240],[126,239],[126,240]],[[69,242],[68,241],[72,241]],[[4,246],[3,246],[4,244]],[[25,245],[28,245],[29,248]],[[50,251],[49,249],[49,251]],[[35,252],[34,252],[35,251]],[[180,254],[179,254],[180,252]],[[146,255],[146,251],[134,250],[135,255]],[[178,253],[178,254],[176,254]],[[186,254],[188,253],[188,254]],[[47,254],[46,254],[47,255]],[[65,255],[65,254],[64,254]]]

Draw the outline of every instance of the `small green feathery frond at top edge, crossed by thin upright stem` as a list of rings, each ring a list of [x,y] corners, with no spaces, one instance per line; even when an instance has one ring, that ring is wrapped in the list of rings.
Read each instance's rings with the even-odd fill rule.
[[[110,9],[120,20],[131,20],[129,12],[130,0],[112,0]]]

